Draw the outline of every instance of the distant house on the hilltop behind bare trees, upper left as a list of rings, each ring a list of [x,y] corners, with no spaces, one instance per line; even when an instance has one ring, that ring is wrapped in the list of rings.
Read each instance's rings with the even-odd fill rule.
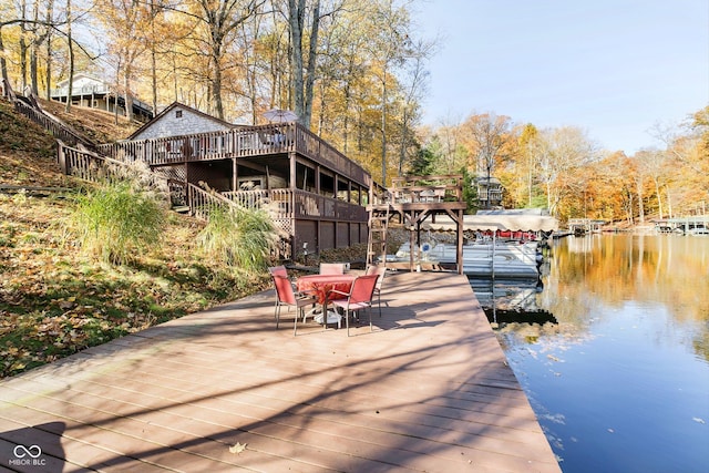
[[[51,99],[66,103],[69,100],[69,80],[63,80],[52,90]],[[153,107],[142,102],[135,96],[133,100],[133,117],[141,122],[147,122],[153,117]],[[89,109],[105,110],[111,113],[117,112],[125,115],[125,97],[116,94],[115,88],[110,83],[91,76],[89,74],[75,74],[71,88],[72,105],[85,106]]]

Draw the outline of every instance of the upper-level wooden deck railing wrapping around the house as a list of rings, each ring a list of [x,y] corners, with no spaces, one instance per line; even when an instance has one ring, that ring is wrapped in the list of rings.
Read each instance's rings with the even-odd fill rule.
[[[99,145],[97,150],[114,160],[144,161],[151,166],[297,152],[360,185],[371,184],[371,177],[359,164],[297,123],[111,143]]]

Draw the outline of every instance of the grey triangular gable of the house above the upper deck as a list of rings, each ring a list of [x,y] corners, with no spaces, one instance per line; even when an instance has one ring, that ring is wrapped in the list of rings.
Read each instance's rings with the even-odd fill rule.
[[[194,133],[226,132],[237,127],[179,102],[173,102],[153,120],[137,128],[129,140],[152,140]]]

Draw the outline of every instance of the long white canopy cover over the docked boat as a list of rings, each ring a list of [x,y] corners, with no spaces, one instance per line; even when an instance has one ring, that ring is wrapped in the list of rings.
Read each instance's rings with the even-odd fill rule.
[[[436,215],[435,223],[427,219],[422,229],[455,232],[456,225],[448,215]],[[523,230],[552,232],[558,229],[558,220],[549,215],[532,215],[526,213],[504,213],[487,215],[464,215],[463,230]]]

